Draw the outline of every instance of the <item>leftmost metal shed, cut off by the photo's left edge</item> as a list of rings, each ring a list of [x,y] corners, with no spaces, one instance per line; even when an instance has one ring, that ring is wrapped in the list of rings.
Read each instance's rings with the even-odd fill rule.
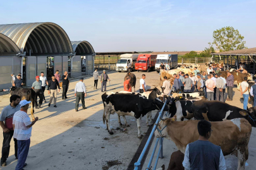
[[[18,46],[0,33],[0,89],[11,87],[11,73],[20,72],[20,54]]]

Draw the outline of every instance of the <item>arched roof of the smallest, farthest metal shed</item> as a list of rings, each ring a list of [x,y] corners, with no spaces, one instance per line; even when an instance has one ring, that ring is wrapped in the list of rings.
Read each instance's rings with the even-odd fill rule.
[[[73,51],[76,55],[94,54],[94,48],[87,41],[72,41]]]

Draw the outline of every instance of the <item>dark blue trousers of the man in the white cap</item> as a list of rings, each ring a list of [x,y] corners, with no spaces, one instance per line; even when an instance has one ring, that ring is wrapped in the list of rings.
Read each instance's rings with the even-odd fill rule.
[[[23,169],[28,156],[28,150],[30,146],[30,139],[28,140],[17,140],[18,142],[18,163],[15,170]]]

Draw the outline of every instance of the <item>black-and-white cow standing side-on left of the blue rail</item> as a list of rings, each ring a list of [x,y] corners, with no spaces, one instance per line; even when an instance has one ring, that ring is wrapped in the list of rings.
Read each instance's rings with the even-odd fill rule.
[[[109,134],[113,135],[113,132],[110,128],[110,115],[117,113],[118,115],[129,115],[134,116],[137,119],[138,127],[138,138],[142,137],[140,132],[140,120],[142,116],[146,115],[149,111],[152,110],[161,110],[164,103],[156,99],[146,99],[139,94],[111,94],[107,95],[106,93],[101,96],[102,102],[104,105],[103,112],[103,122],[107,125],[107,130]],[[164,111],[168,111],[168,106],[164,107]]]

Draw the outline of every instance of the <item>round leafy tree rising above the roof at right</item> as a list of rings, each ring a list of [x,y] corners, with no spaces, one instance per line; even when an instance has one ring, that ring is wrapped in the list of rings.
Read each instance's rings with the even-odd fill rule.
[[[214,31],[213,38],[212,44],[216,45],[220,52],[246,48],[245,41],[243,41],[244,37],[232,26],[226,26]]]

